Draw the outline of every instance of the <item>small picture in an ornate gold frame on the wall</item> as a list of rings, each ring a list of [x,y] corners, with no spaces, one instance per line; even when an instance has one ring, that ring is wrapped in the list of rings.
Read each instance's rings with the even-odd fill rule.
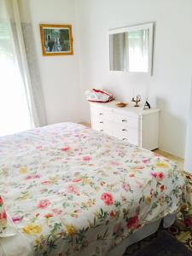
[[[73,55],[71,25],[40,24],[43,55]]]

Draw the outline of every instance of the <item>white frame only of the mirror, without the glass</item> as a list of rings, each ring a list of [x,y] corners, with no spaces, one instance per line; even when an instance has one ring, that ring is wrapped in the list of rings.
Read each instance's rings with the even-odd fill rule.
[[[110,69],[110,40],[109,35],[119,34],[123,32],[133,32],[137,30],[148,29],[148,72],[137,72],[137,71],[122,71],[122,70],[111,70]],[[135,25],[135,26],[125,26],[121,28],[109,29],[108,30],[108,49],[109,49],[109,71],[110,72],[127,72],[127,73],[146,73],[152,75],[153,69],[153,51],[154,51],[154,22],[148,22],[145,24]]]

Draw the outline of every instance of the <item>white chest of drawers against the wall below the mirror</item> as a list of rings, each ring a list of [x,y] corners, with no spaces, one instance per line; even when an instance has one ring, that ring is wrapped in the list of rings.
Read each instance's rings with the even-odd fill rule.
[[[90,102],[92,129],[142,148],[158,148],[160,109],[118,108],[116,103]]]

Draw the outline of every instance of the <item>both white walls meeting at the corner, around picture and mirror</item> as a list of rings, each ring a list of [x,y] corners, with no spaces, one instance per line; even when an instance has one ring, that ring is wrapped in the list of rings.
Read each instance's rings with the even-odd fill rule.
[[[125,102],[131,100],[133,89],[144,88],[149,102],[161,109],[160,149],[184,156],[192,66],[191,0],[20,1],[29,3],[49,124],[90,121],[84,99],[89,88],[110,90]],[[155,22],[153,76],[110,73],[108,29],[148,21]],[[74,55],[42,56],[39,23],[72,24]]]

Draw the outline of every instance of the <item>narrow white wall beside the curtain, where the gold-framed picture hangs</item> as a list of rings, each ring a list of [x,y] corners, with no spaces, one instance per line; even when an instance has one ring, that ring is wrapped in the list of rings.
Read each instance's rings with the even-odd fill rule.
[[[22,0],[23,19],[30,13],[38,55],[48,123],[79,121],[79,80],[75,37],[74,0]],[[28,8],[27,8],[27,5]],[[40,23],[71,24],[74,55],[43,56]]]

